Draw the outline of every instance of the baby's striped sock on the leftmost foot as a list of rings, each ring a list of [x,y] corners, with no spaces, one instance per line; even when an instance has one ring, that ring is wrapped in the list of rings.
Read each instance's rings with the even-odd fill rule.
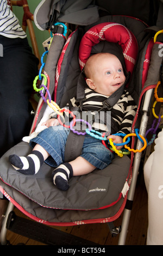
[[[33,175],[39,171],[44,159],[39,151],[33,150],[32,154],[29,154],[26,157],[10,155],[9,162],[18,172],[26,175]]]

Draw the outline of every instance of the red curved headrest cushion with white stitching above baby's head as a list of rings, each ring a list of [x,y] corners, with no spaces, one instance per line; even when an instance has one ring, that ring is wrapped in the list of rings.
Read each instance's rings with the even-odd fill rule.
[[[116,42],[122,47],[126,70],[132,74],[137,57],[137,41],[128,28],[112,22],[98,24],[84,34],[79,46],[80,69],[89,58],[92,46],[102,40]]]

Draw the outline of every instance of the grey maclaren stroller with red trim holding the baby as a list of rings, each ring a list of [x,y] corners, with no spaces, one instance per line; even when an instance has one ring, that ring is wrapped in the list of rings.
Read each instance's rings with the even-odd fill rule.
[[[162,74],[162,54],[159,54],[162,34],[157,34],[155,43],[153,36],[163,25],[162,1],[153,1],[155,16],[152,19],[151,16],[149,18],[151,9],[146,9],[145,16],[137,14],[136,7],[133,13],[127,13],[126,2],[123,1],[121,6],[120,1],[111,3],[78,0],[74,4],[72,0],[44,0],[36,8],[34,14],[36,26],[41,30],[50,29],[51,34],[54,34],[40,85],[45,83],[45,80],[48,82],[40,98],[30,135],[5,153],[0,160],[0,191],[10,201],[1,231],[2,245],[7,244],[5,239],[7,229],[12,230],[12,227],[14,229],[11,220],[18,219],[12,211],[14,206],[36,221],[36,229],[46,227],[43,232],[45,237],[41,241],[49,245],[62,245],[63,239],[60,241],[60,237],[63,236],[65,245],[70,245],[70,240],[73,245],[92,245],[92,243],[77,237],[73,239],[71,235],[48,229],[47,225],[68,226],[105,222],[111,227],[112,234],[120,233],[118,244],[125,244],[141,161],[141,149],[143,143],[145,144],[140,138],[145,137],[147,127],[151,125],[148,119],[153,90]],[[140,2],[145,4],[146,1]],[[130,3],[132,5],[134,1]],[[117,8],[118,4],[120,9]],[[115,155],[112,163],[104,170],[95,170],[87,175],[73,177],[68,191],[59,191],[52,185],[52,167],[47,166],[46,163],[43,163],[36,175],[27,177],[15,172],[8,161],[8,156],[30,153],[32,149],[28,140],[40,131],[40,124],[43,120],[47,120],[53,110],[47,105],[47,99],[53,97],[60,108],[65,107],[67,100],[76,94],[79,96],[78,99],[82,100],[83,94],[78,95],[78,91],[82,92],[83,89],[79,84],[78,90],[77,84],[83,63],[91,53],[106,52],[110,47],[122,48],[126,68],[131,72],[128,90],[138,107],[132,124],[130,149],[136,148],[136,150],[131,151],[129,156],[123,155],[122,158]],[[139,127],[138,137],[135,133],[137,127]],[[65,161],[80,155],[79,145],[82,145],[83,137],[70,133],[66,144]],[[122,227],[112,227],[112,223],[122,212]],[[28,227],[29,221],[24,220],[24,231]]]

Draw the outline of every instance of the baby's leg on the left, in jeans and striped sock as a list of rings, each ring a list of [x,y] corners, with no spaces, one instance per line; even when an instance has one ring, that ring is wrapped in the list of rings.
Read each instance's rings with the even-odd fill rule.
[[[26,175],[36,174],[44,161],[50,166],[58,167],[64,162],[68,136],[67,129],[62,129],[62,127],[51,126],[41,131],[30,140],[30,147],[33,148],[31,154],[28,156],[10,155],[9,162],[18,172]],[[51,159],[48,156],[51,156]]]

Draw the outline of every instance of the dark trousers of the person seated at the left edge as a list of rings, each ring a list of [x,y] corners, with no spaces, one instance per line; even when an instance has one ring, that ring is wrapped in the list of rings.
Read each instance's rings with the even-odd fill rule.
[[[0,157],[29,135],[32,125],[29,96],[38,74],[38,59],[27,39],[0,35]],[[3,57],[2,57],[3,46]]]

